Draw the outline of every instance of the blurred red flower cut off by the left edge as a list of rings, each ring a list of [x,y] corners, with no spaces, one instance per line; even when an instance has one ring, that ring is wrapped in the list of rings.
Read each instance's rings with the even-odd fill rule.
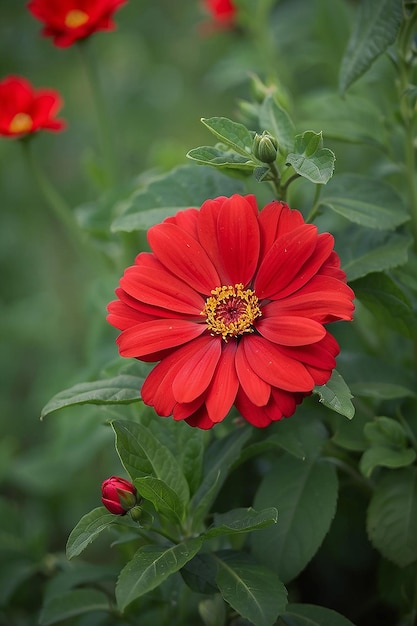
[[[0,135],[22,137],[37,130],[62,130],[55,115],[62,106],[54,89],[34,89],[25,78],[7,76],[0,82]]]

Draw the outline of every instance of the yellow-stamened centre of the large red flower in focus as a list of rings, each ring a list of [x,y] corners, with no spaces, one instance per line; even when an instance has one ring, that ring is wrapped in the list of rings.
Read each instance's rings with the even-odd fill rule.
[[[209,329],[227,341],[243,333],[253,332],[253,322],[262,315],[258,298],[242,283],[216,287],[207,298],[201,315],[206,316]]]

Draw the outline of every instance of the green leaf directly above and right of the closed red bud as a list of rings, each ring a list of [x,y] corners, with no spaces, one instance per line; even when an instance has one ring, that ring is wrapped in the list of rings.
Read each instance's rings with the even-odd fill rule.
[[[168,448],[138,422],[112,423],[116,433],[116,449],[123,466],[134,480],[154,476],[165,482],[185,506],[190,490],[178,461]]]

